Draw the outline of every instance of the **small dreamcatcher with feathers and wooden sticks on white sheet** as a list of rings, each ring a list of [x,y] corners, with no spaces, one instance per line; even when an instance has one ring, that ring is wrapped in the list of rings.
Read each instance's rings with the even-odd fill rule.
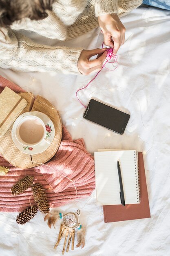
[[[48,225],[51,228],[51,225],[55,228],[55,223],[59,219],[63,219],[63,222],[60,226],[60,232],[58,235],[57,243],[54,248],[56,249],[60,243],[60,240],[65,236],[64,246],[62,250],[62,254],[64,254],[65,249],[68,252],[69,247],[71,245],[71,249],[74,250],[74,242],[75,242],[75,230],[77,231],[77,245],[76,247],[84,247],[85,245],[85,230],[79,223],[80,211],[77,210],[76,213],[68,212],[66,214],[59,213],[57,211],[51,211],[46,214],[44,221],[48,220]],[[68,243],[67,243],[68,239]],[[67,243],[67,246],[66,246]]]

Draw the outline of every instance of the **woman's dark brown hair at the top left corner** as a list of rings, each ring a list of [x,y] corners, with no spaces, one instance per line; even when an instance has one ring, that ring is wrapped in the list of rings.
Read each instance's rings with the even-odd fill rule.
[[[55,0],[0,0],[0,27],[9,27],[22,18],[42,20]]]

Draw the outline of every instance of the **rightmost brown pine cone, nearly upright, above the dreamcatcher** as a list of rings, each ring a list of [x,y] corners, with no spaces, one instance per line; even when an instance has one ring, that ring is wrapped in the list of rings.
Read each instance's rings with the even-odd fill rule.
[[[39,183],[33,184],[32,191],[33,191],[34,200],[38,205],[38,209],[42,213],[49,213],[50,205],[42,185]]]

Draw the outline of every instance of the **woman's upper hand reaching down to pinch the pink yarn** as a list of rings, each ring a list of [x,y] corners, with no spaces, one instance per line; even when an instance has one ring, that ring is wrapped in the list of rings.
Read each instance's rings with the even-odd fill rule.
[[[124,25],[116,13],[99,16],[98,21],[104,34],[104,44],[114,47],[113,53],[116,54],[119,47],[124,44],[126,30]]]

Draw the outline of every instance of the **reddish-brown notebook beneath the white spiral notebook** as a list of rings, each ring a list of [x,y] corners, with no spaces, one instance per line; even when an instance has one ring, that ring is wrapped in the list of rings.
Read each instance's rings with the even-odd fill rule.
[[[140,204],[104,205],[104,222],[116,222],[122,220],[137,220],[150,218],[148,191],[146,186],[144,159],[142,152],[138,153]]]

